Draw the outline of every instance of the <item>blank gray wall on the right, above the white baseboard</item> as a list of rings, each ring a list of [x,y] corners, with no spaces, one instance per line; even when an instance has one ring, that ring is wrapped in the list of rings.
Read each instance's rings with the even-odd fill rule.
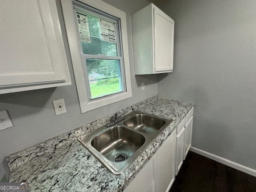
[[[256,169],[255,0],[171,0],[174,71],[160,98],[194,101],[192,146]]]

